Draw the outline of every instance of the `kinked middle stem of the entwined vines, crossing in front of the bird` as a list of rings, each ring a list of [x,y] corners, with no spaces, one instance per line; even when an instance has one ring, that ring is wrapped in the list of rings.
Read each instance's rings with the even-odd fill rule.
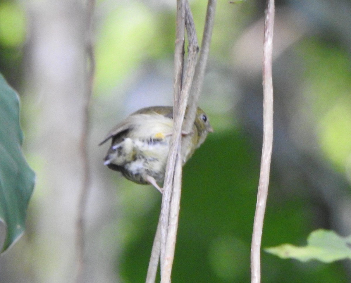
[[[194,23],[192,21],[191,12],[188,7],[188,2],[185,0],[183,2],[183,10],[186,15],[186,29],[188,32],[188,56],[187,65],[184,74],[183,84],[180,87],[180,96],[174,96],[174,118],[173,118],[173,135],[170,147],[170,153],[168,156],[168,166],[166,171],[166,181],[164,186],[164,197],[163,202],[170,204],[169,200],[165,198],[165,192],[171,191],[171,205],[167,207],[169,212],[164,212],[165,207],[161,208],[162,219],[168,217],[168,220],[162,220],[161,229],[161,283],[171,282],[171,271],[174,258],[174,249],[176,245],[176,234],[178,228],[178,216],[179,216],[179,205],[180,205],[180,191],[181,191],[181,170],[182,170],[182,160],[180,156],[180,143],[181,143],[181,130],[185,115],[185,109],[187,105],[188,96],[190,94],[192,79],[195,72],[196,58],[198,52],[196,33],[194,28]],[[177,10],[178,12],[178,10]],[[178,23],[178,22],[177,22]],[[178,29],[178,27],[177,27]],[[183,34],[184,36],[184,34]],[[183,38],[184,39],[184,38]],[[175,89],[179,86],[175,86]],[[175,90],[175,94],[177,91]],[[178,100],[178,101],[177,101]],[[164,224],[167,223],[167,226]],[[164,235],[166,236],[166,242],[164,245]]]

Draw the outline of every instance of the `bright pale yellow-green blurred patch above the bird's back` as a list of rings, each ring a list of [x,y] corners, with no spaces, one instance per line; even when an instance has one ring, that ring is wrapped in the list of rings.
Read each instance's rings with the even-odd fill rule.
[[[111,11],[95,49],[99,93],[130,76],[140,60],[157,48],[155,30],[152,12],[140,2],[130,1]]]

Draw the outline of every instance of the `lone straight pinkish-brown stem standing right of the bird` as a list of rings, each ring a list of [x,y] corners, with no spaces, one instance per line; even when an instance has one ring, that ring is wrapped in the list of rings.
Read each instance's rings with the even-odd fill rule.
[[[263,41],[263,146],[258,184],[256,212],[251,242],[251,283],[261,281],[260,248],[264,213],[268,195],[269,173],[273,144],[273,53],[274,0],[267,0]]]

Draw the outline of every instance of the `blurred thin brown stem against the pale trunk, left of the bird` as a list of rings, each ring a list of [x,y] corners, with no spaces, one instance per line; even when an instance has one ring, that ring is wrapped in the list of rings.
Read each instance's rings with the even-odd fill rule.
[[[86,210],[86,203],[90,188],[90,166],[88,159],[88,137],[89,137],[89,106],[90,99],[93,91],[93,79],[95,72],[95,58],[92,43],[92,19],[95,7],[95,0],[88,0],[86,7],[86,22],[85,22],[85,49],[86,49],[86,82],[85,82],[85,105],[83,111],[83,124],[82,124],[82,134],[80,140],[81,149],[81,160],[83,167],[83,180],[82,187],[78,203],[78,216],[77,216],[77,278],[76,282],[83,282],[83,272],[84,272],[84,214]]]

